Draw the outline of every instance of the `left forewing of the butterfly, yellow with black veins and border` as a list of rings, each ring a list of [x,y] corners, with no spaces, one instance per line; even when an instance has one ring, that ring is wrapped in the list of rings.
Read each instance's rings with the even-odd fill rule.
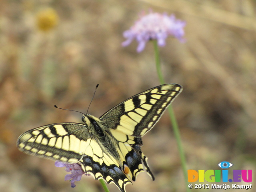
[[[90,146],[88,138],[89,132],[84,124],[50,124],[23,133],[17,146],[28,154],[76,163]]]

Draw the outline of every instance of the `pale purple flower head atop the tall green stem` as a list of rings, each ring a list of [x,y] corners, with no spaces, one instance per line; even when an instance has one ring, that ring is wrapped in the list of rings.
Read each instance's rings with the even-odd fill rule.
[[[136,39],[138,41],[137,52],[141,52],[149,40],[157,40],[158,46],[165,46],[168,36],[174,36],[180,42],[184,42],[182,37],[185,25],[186,22],[177,20],[174,14],[168,16],[166,13],[151,12],[141,16],[129,30],[123,33],[126,41],[122,43],[122,46],[128,46],[132,40]]]

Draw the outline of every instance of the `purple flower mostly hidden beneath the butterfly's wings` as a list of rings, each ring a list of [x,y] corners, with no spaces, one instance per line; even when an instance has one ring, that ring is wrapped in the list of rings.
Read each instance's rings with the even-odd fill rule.
[[[75,181],[80,181],[81,177],[83,174],[86,174],[86,172],[84,172],[81,168],[81,166],[77,163],[74,164],[67,164],[67,163],[63,163],[60,161],[56,161],[55,162],[55,166],[56,167],[65,167],[66,166],[66,171],[67,172],[71,172],[71,174],[67,174],[65,176],[65,181],[66,180],[71,180],[71,187],[75,187]]]

